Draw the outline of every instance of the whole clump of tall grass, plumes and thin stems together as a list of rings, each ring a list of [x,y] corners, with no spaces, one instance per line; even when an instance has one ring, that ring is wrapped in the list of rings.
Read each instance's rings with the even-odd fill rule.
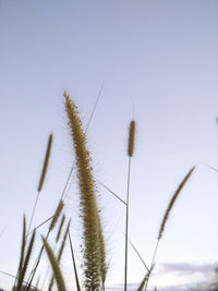
[[[90,165],[90,154],[86,145],[86,130],[83,130],[83,124],[80,119],[78,110],[73,102],[73,100],[70,98],[69,94],[66,92],[63,93],[64,101],[65,101],[65,112],[69,120],[69,129],[70,134],[72,137],[72,148],[75,153],[75,160],[72,160],[72,169],[70,171],[70,174],[68,177],[66,183],[64,185],[63,192],[60,195],[59,204],[57,205],[57,208],[53,213],[53,215],[47,219],[46,221],[41,222],[39,226],[35,227],[33,231],[31,231],[31,226],[34,222],[34,215],[36,211],[37,203],[39,193],[43,190],[44,181],[46,179],[46,172],[49,165],[49,157],[51,151],[51,145],[52,145],[52,134],[49,135],[48,138],[48,145],[46,149],[45,155],[45,161],[43,166],[43,171],[40,174],[38,189],[37,189],[37,197],[34,204],[34,208],[32,211],[28,229],[26,231],[26,218],[24,216],[23,218],[23,234],[22,234],[22,245],[21,245],[21,255],[20,255],[20,263],[17,267],[16,275],[10,275],[14,277],[14,291],[21,291],[21,290],[32,290],[33,282],[36,281],[36,274],[38,269],[38,265],[41,262],[43,255],[46,255],[49,260],[50,268],[52,269],[52,275],[50,277],[50,283],[48,290],[53,290],[53,286],[58,288],[59,291],[65,291],[66,290],[66,279],[64,278],[64,275],[61,270],[61,257],[63,254],[63,250],[69,243],[70,245],[70,254],[69,256],[72,258],[72,266],[74,269],[74,274],[72,276],[75,276],[75,286],[72,290],[87,290],[87,291],[100,291],[100,290],[107,290],[106,288],[106,281],[107,281],[107,272],[108,272],[108,255],[106,253],[106,246],[105,246],[105,233],[102,229],[102,222],[98,206],[98,201],[96,197],[96,180],[93,174],[93,169]],[[99,99],[99,96],[98,96]],[[97,99],[97,101],[98,101]],[[97,105],[97,102],[96,102]],[[95,105],[95,108],[96,108]],[[94,108],[94,110],[95,110]],[[94,111],[93,111],[94,113]],[[93,117],[92,113],[92,117]],[[92,118],[90,118],[92,120]],[[90,123],[90,120],[88,122],[88,125]],[[131,162],[134,154],[134,136],[135,136],[135,121],[132,120],[130,122],[129,126],[129,141],[128,141],[128,159],[129,159],[129,168],[128,168],[128,182],[126,182],[126,201],[123,201],[113,191],[111,191],[107,185],[105,185],[102,182],[98,181],[110,195],[112,195],[114,198],[117,198],[123,207],[125,207],[125,241],[124,241],[124,279],[123,279],[123,290],[128,290],[128,280],[129,280],[129,274],[128,274],[128,264],[129,264],[129,244],[133,247],[136,255],[140,257],[140,259],[144,263],[146,274],[144,278],[142,278],[142,281],[138,282],[138,291],[145,291],[147,290],[150,275],[153,274],[153,269],[155,267],[155,259],[157,255],[158,245],[160,243],[160,240],[164,235],[167,221],[171,215],[171,211],[173,209],[173,206],[183,190],[185,183],[190,179],[191,174],[193,173],[195,167],[193,167],[189,173],[185,175],[185,178],[182,180],[181,184],[177,189],[175,193],[172,195],[172,198],[170,199],[165,215],[162,217],[162,221],[159,228],[158,232],[158,239],[155,246],[155,251],[153,254],[153,259],[150,264],[147,264],[144,262],[143,257],[134,246],[134,244],[130,241],[129,238],[129,210],[130,210],[130,181],[131,181]],[[68,186],[68,183],[70,181],[71,173],[73,169],[76,170],[77,173],[77,184],[78,184],[78,192],[80,192],[80,201],[81,201],[81,217],[83,220],[83,276],[78,277],[77,266],[76,266],[76,254],[74,254],[74,247],[73,242],[76,242],[76,239],[71,237],[70,234],[70,223],[71,220],[69,220],[68,226],[64,226],[65,221],[65,215],[64,215],[64,194],[65,189]],[[60,216],[62,215],[62,218],[60,220]],[[60,223],[58,226],[58,221],[60,220]],[[41,237],[41,247],[39,248],[38,255],[35,258],[34,265],[31,267],[31,270],[28,268],[29,258],[31,255],[33,255],[34,250],[34,242],[36,238],[36,232],[40,230],[40,227],[45,223],[48,223],[48,231],[45,237]],[[56,232],[56,239],[52,243],[49,243],[49,237],[51,232]],[[62,238],[61,244],[59,243]],[[69,239],[69,240],[68,240]],[[60,244],[58,254],[56,254],[56,246]],[[149,266],[149,267],[148,267]],[[46,278],[48,277],[48,272],[46,272]],[[45,282],[44,279],[44,282]],[[37,286],[40,289],[40,280],[37,280]],[[43,283],[44,287],[44,283]]]

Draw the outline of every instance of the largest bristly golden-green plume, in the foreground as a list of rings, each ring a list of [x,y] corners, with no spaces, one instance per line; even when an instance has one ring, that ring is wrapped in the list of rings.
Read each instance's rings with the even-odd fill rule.
[[[86,138],[77,108],[65,92],[63,96],[65,98],[65,111],[68,113],[69,126],[75,150],[81,194],[81,210],[84,227],[84,284],[87,291],[99,290],[100,283],[105,281],[106,258],[90,158],[86,148]]]

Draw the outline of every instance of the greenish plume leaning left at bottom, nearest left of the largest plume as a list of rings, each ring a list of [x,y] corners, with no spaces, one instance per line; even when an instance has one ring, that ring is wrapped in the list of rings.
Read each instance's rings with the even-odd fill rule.
[[[66,291],[65,289],[65,283],[63,281],[63,276],[61,274],[61,270],[59,268],[59,263],[55,257],[55,254],[50,247],[50,245],[48,244],[47,240],[43,237],[43,242],[44,242],[44,246],[46,248],[46,253],[48,255],[48,258],[50,260],[53,274],[55,274],[55,278],[57,281],[57,286],[58,286],[58,290],[59,291]]]

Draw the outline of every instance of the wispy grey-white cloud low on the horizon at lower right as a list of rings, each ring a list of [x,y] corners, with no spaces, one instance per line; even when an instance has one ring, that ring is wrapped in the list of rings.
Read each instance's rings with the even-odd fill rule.
[[[157,286],[158,291],[214,291],[218,290],[218,271],[215,264],[161,263],[153,274],[149,291]],[[140,282],[129,283],[128,290],[135,291]],[[123,290],[118,283],[107,288],[110,291]]]

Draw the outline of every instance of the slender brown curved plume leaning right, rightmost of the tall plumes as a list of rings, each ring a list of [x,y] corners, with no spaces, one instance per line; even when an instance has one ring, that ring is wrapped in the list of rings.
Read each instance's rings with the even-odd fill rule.
[[[165,216],[162,218],[161,225],[160,225],[160,229],[159,229],[159,233],[158,233],[158,240],[161,239],[162,233],[165,231],[165,227],[166,227],[166,222],[169,218],[170,211],[172,210],[172,207],[181,192],[181,190],[183,189],[184,184],[186,183],[186,181],[189,180],[189,178],[191,177],[192,172],[194,171],[195,167],[193,167],[189,173],[185,175],[185,178],[182,180],[181,184],[179,185],[178,190],[175,191],[175,193],[173,194],[171,201],[168,204],[167,210],[165,213]]]

